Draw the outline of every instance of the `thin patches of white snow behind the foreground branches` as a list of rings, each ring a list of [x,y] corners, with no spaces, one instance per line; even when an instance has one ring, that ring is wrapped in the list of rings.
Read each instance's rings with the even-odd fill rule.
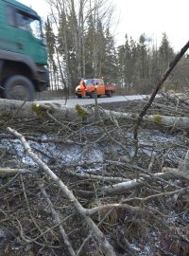
[[[87,128],[85,133],[89,135],[92,131],[97,135],[101,132],[101,129],[95,127]],[[45,135],[42,137],[46,138]],[[125,137],[127,138],[128,153],[124,152],[124,155],[128,154],[130,157],[134,154],[135,150],[132,143],[132,134],[130,132],[126,132]],[[167,135],[158,130],[153,130],[153,134],[150,130],[142,130],[139,133],[141,155],[158,155],[162,161],[166,160],[166,162],[178,163],[186,151],[184,147],[177,147],[177,145],[180,144],[180,140],[180,137],[170,134]],[[94,169],[92,169],[94,172],[95,170],[96,172],[101,170],[101,165],[105,159],[107,159],[107,156],[113,154],[113,152],[114,154],[122,155],[123,152],[118,145],[113,145],[112,147],[112,144],[106,140],[99,143],[93,143],[91,141],[91,144],[88,143],[86,146],[78,144],[56,144],[53,142],[38,143],[36,141],[28,141],[28,143],[33,151],[37,153],[47,164],[50,158],[54,158],[58,161],[58,163],[68,166],[77,166],[85,162],[88,164],[96,163]],[[33,160],[26,155],[23,145],[18,139],[11,141],[9,139],[2,139],[0,149],[1,148],[6,148],[9,154],[12,155],[12,158],[15,160],[20,159],[20,162],[22,162],[24,165],[28,167],[36,166]],[[79,170],[82,171],[80,167],[77,168],[77,171]]]

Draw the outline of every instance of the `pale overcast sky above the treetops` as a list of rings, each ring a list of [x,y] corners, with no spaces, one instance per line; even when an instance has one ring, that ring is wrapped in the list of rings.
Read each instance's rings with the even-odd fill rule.
[[[45,0],[20,0],[45,17],[48,5]],[[124,44],[125,34],[138,40],[145,32],[153,42],[159,44],[166,32],[171,46],[180,50],[189,40],[189,0],[112,0],[114,5],[114,27],[118,45]]]

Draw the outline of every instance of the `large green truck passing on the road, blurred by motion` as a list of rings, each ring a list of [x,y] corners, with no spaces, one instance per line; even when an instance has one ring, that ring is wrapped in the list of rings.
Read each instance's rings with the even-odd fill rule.
[[[47,49],[37,12],[0,0],[0,97],[33,101],[49,86]]]

